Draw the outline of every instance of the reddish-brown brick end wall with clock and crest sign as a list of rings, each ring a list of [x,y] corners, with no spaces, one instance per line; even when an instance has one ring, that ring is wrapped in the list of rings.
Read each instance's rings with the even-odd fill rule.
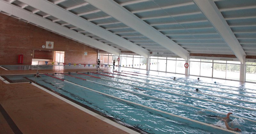
[[[31,64],[34,50],[64,51],[66,63],[95,64],[98,50],[24,21],[0,13],[0,65]],[[46,41],[54,42],[54,49],[42,48]],[[88,52],[85,56],[84,52]],[[33,54],[31,56],[31,54]]]

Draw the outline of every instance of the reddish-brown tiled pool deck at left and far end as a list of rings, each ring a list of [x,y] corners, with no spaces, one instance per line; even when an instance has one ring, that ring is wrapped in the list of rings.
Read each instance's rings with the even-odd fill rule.
[[[96,70],[95,68],[62,71],[40,70],[40,73],[69,71]],[[1,75],[35,73],[36,70],[6,71],[0,68]],[[127,133],[29,83],[5,84],[0,81],[0,104],[0,134]]]

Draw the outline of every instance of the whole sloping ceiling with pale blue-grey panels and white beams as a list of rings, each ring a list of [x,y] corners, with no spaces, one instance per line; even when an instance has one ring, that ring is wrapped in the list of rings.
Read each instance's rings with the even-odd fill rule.
[[[148,52],[173,52],[183,59],[189,53],[235,54],[240,61],[256,55],[256,0],[0,2],[2,13],[114,54],[121,50],[147,57]],[[6,6],[18,7],[20,13]],[[36,21],[39,18],[44,20]],[[56,24],[58,29],[49,29]]]

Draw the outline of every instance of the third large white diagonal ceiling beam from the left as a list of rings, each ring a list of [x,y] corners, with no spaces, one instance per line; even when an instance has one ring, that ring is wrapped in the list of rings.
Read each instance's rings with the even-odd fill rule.
[[[155,28],[148,25],[146,22],[132,14],[130,11],[117,4],[115,1],[86,0],[86,2],[92,4],[101,11],[104,11],[113,18],[116,18],[120,22],[146,36],[148,39],[151,39],[159,45],[164,46],[167,50],[176,53],[181,58],[188,60],[189,52],[187,50],[176,44],[174,41],[163,35],[161,32],[157,31]]]

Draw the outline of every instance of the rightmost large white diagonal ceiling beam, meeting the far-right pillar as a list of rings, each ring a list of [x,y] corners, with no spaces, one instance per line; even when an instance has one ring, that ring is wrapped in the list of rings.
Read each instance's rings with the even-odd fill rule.
[[[238,58],[241,64],[243,64],[244,56],[246,54],[215,3],[212,0],[194,0],[194,2],[228,44],[230,49],[236,55],[236,58]]]

